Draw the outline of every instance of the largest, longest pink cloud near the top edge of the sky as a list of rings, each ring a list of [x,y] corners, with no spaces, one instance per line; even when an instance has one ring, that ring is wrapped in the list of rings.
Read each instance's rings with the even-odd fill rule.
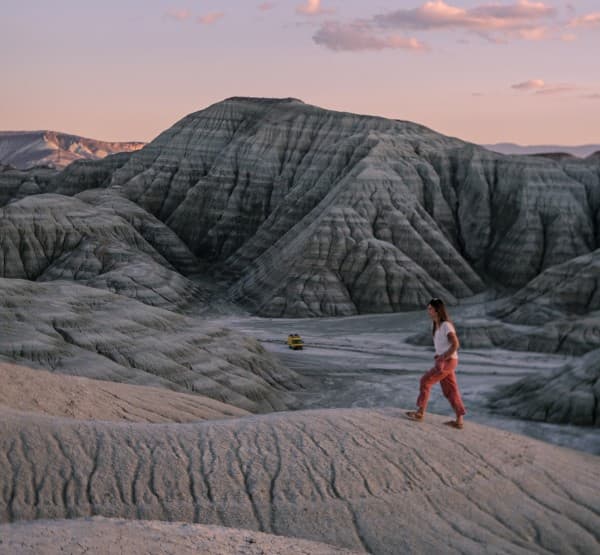
[[[435,30],[458,29],[478,34],[501,34],[509,38],[540,40],[550,32],[540,21],[554,17],[556,10],[544,2],[517,0],[514,4],[485,4],[471,9],[432,0],[418,8],[376,15],[382,27]]]

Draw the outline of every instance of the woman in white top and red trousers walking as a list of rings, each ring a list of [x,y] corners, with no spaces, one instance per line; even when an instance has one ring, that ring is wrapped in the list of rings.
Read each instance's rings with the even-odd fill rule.
[[[427,313],[433,321],[435,365],[421,378],[417,410],[409,411],[406,414],[412,420],[423,420],[431,388],[434,384],[440,382],[446,399],[450,401],[456,413],[456,420],[450,420],[445,424],[460,430],[463,427],[463,416],[466,411],[454,373],[458,364],[458,337],[441,299],[431,299],[427,305]]]

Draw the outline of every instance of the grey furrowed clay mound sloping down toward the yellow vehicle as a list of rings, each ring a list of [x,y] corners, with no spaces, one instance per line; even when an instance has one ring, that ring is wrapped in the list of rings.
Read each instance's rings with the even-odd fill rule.
[[[72,282],[0,278],[0,360],[199,393],[250,412],[301,384],[251,337]]]

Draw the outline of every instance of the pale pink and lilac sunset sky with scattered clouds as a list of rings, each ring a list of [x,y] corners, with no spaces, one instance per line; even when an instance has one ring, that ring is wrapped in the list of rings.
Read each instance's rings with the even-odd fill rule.
[[[0,130],[149,141],[231,96],[600,143],[600,0],[2,0]]]

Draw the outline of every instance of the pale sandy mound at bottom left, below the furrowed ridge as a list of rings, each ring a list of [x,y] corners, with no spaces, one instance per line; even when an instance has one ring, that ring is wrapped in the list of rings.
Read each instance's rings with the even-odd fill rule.
[[[85,520],[0,525],[0,553],[7,555],[351,555],[357,551],[250,530],[202,524]]]

